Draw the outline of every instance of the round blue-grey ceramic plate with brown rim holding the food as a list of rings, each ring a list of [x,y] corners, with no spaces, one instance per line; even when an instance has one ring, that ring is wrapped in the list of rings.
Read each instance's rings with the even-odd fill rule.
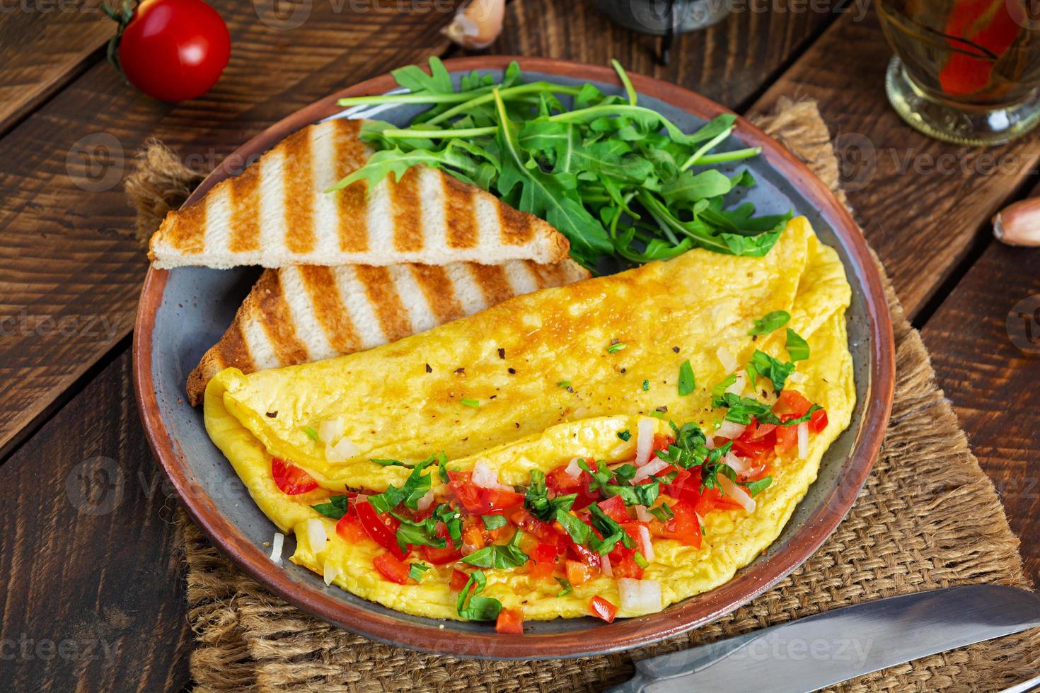
[[[458,78],[470,70],[500,75],[509,57],[447,60]],[[528,80],[565,84],[589,81],[620,94],[609,68],[543,58],[516,58]],[[722,106],[674,84],[633,75],[640,104],[659,110],[684,131],[725,112]],[[194,191],[202,197],[242,161],[255,159],[286,135],[317,121],[342,115],[336,99],[383,94],[396,87],[389,75],[330,96],[276,124],[228,157]],[[392,106],[382,119],[405,125],[415,107]],[[747,199],[761,213],[794,210],[812,222],[821,239],[841,256],[853,288],[848,313],[858,403],[852,425],[824,456],[820,477],[770,550],[733,580],[660,613],[604,623],[594,618],[528,621],[522,636],[499,636],[493,624],[438,621],[385,609],[340,590],[321,578],[268,558],[275,526],[245,492],[231,464],[206,435],[201,408],[188,406],[187,374],[231,323],[258,275],[256,269],[150,269],[141,291],[133,357],[137,401],[149,441],[194,522],[225,554],[271,592],[315,616],[376,640],[435,652],[495,659],[577,657],[626,649],[697,628],[736,609],[789,574],[834,531],[856,498],[878,454],[893,387],[891,323],[878,270],[860,230],[809,169],[775,140],[738,118],[722,149],[758,145],[748,162],[758,184]],[[293,551],[293,539],[284,555]]]

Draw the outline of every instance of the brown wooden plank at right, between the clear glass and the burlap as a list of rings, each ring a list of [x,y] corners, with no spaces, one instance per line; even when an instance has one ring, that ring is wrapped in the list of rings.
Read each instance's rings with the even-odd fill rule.
[[[911,319],[979,242],[990,215],[1040,159],[1036,137],[965,150],[929,139],[888,105],[891,51],[872,12],[835,22],[770,87],[753,110],[780,97],[812,97],[841,153],[844,187],[867,240]]]

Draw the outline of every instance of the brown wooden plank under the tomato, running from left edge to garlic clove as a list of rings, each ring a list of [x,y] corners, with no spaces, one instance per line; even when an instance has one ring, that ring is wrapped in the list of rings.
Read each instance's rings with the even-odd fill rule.
[[[121,182],[147,138],[208,170],[311,101],[447,48],[446,11],[309,4],[281,29],[285,15],[216,3],[232,57],[201,99],[157,102],[100,62],[0,139],[0,454],[132,326],[147,261]]]

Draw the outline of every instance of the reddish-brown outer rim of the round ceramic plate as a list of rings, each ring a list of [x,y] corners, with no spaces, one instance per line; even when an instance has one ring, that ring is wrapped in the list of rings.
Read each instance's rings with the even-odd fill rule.
[[[477,56],[452,58],[445,60],[444,64],[449,71],[458,72],[504,69],[511,60],[518,61],[524,71],[618,83],[617,74],[610,68],[553,58]],[[640,94],[668,102],[700,117],[710,118],[720,113],[731,112],[709,99],[674,84],[636,74],[630,74],[630,77]],[[336,105],[337,99],[384,94],[395,86],[390,75],[383,75],[296,111],[253,137],[225,159],[196,188],[185,205],[198,201],[213,185],[228,178],[235,164],[240,165],[240,162],[270,149],[300,128],[340,112],[342,108]],[[870,472],[881,449],[892,405],[894,343],[881,276],[862,232],[849,211],[804,163],[751,123],[737,117],[735,134],[749,145],[761,146],[765,160],[805,195],[841,238],[850,256],[848,269],[859,276],[866,289],[863,301],[870,323],[870,387],[863,423],[854,443],[853,453],[832,496],[804,523],[785,550],[745,568],[728,583],[658,614],[555,634],[502,636],[490,627],[486,633],[459,633],[439,629],[433,619],[428,625],[416,624],[402,629],[401,622],[392,616],[349,605],[320,589],[302,588],[290,580],[283,568],[270,561],[261,547],[248,540],[216,511],[181,464],[182,453],[179,448],[175,448],[174,441],[162,423],[155,391],[144,384],[152,382],[152,330],[167,277],[165,270],[149,268],[141,289],[133,337],[134,389],[149,444],[192,519],[246,574],[300,609],[366,637],[443,655],[489,659],[546,659],[619,651],[662,640],[707,623],[775,585],[808,559],[837,528]]]

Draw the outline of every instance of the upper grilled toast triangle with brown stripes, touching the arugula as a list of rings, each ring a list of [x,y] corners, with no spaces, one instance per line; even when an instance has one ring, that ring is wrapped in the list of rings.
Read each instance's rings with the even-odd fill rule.
[[[415,166],[370,191],[324,192],[371,151],[361,121],[336,118],[289,135],[199,203],[170,212],[149,243],[152,265],[446,265],[556,263],[570,244],[538,217],[448,174]]]

